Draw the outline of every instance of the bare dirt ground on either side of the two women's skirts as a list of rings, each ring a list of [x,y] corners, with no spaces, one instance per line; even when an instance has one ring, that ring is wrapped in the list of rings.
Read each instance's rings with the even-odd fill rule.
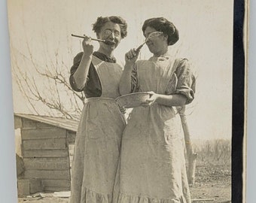
[[[194,202],[231,202],[231,170],[230,165],[197,165],[194,186],[190,186],[191,198],[208,201]],[[49,194],[50,195],[50,194]],[[26,197],[19,198],[18,203],[68,203],[69,198]]]

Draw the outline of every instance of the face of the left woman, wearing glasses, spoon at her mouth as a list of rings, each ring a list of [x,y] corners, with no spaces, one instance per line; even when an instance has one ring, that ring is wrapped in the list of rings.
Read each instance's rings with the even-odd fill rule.
[[[120,26],[117,23],[112,23],[111,21],[105,23],[99,34],[97,34],[97,38],[113,41],[114,44],[111,45],[100,42],[100,46],[114,50],[121,40]]]

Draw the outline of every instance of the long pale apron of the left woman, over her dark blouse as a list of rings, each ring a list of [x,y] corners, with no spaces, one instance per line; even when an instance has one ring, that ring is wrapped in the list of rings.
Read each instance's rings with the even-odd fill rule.
[[[114,98],[119,96],[120,65],[93,56],[102,96],[84,104],[75,140],[71,203],[110,203],[125,126]]]

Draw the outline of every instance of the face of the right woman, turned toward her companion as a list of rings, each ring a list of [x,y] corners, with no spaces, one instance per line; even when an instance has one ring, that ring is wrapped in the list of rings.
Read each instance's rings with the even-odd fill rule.
[[[145,38],[148,38],[148,35],[150,35],[152,32],[157,32],[157,30],[148,26],[144,32]],[[163,53],[166,53],[168,49],[167,39],[168,36],[159,35],[148,39],[146,44],[151,53],[154,53],[154,55],[161,55]]]

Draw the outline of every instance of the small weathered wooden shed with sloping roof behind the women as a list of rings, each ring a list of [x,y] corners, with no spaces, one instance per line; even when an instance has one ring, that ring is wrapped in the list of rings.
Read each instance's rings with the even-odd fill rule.
[[[78,121],[14,114],[14,126],[20,129],[25,168],[18,193],[69,191]]]

